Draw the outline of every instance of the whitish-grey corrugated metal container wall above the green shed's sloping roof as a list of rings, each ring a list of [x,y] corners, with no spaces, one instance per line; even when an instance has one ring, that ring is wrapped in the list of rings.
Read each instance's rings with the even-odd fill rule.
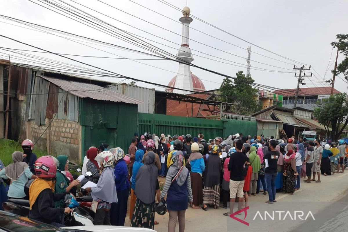
[[[109,86],[108,88],[116,93],[143,101],[144,103],[138,105],[139,113],[153,113],[155,111],[155,89],[127,85],[125,83]]]

